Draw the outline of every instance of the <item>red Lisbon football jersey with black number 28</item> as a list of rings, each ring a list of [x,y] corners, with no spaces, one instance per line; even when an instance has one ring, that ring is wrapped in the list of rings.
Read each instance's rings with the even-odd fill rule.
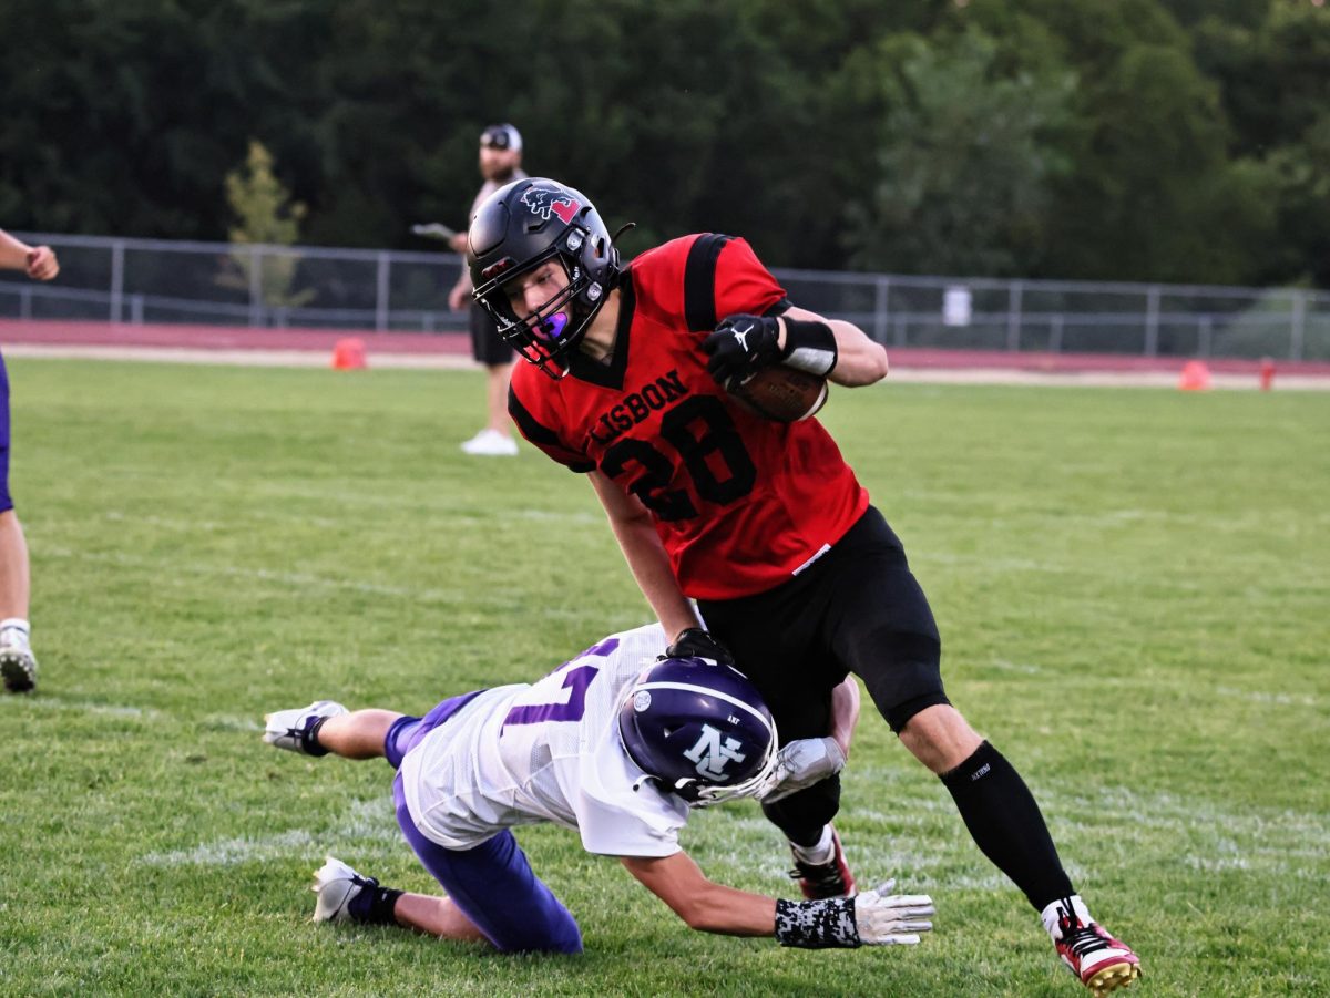
[[[743,239],[714,234],[644,252],[618,287],[610,363],[575,352],[559,381],[519,363],[513,421],[549,457],[600,469],[645,504],[685,595],[778,586],[868,506],[821,423],[754,416],[706,372],[702,339],[717,320],[779,314],[783,288]]]

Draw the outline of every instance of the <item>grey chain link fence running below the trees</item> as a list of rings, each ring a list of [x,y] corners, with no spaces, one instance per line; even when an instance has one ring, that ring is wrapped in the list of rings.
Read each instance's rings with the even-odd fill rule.
[[[451,252],[20,234],[60,279],[0,272],[0,318],[463,331]],[[1330,360],[1330,292],[777,270],[888,347]]]

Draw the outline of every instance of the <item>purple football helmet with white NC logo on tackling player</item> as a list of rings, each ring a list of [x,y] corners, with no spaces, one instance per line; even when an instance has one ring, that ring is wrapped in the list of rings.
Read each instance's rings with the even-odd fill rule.
[[[618,708],[628,757],[692,807],[759,796],[775,781],[775,722],[737,668],[710,659],[657,662]]]

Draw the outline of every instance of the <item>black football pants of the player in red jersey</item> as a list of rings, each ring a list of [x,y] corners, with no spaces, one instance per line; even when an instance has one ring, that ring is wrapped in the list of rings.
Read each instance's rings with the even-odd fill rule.
[[[698,601],[698,609],[762,692],[782,742],[827,734],[831,690],[849,672],[896,732],[924,707],[948,702],[928,598],[872,506],[789,582]]]

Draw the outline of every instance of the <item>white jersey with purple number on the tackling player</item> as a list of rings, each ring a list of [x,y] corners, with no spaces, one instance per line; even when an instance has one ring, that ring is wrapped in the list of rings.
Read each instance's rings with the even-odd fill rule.
[[[535,684],[485,690],[402,760],[416,828],[471,849],[505,828],[553,821],[588,852],[672,856],[688,805],[650,783],[618,740],[626,687],[668,641],[660,625],[614,634]]]

